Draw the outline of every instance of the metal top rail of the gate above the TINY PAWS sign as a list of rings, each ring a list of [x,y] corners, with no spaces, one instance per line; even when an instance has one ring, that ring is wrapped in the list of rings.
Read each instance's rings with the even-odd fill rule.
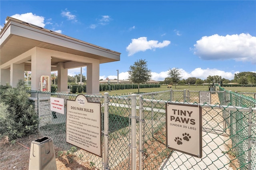
[[[141,96],[142,97],[142,96]],[[163,100],[152,100],[152,99],[143,99],[144,102],[149,102],[149,103],[161,103],[161,104],[166,104],[166,103],[181,103],[181,104],[188,104],[188,105],[196,105],[196,106],[201,106],[202,108],[209,108],[209,109],[220,109],[220,110],[228,110],[228,111],[242,111],[242,112],[250,112],[250,109],[253,113],[256,113],[256,108],[252,107],[238,107],[238,106],[226,106],[226,105],[209,105],[207,103],[188,103],[188,102],[176,102],[176,101],[163,101]]]

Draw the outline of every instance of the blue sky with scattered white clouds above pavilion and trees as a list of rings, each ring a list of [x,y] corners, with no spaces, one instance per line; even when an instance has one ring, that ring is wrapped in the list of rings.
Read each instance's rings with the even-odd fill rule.
[[[256,72],[256,1],[1,0],[1,28],[7,16],[120,52],[100,65],[100,79],[117,79],[116,70],[128,79],[139,59],[156,81],[174,67],[184,79]]]

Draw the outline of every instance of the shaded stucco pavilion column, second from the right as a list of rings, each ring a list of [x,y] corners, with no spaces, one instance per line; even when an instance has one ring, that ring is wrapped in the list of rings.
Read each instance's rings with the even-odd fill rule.
[[[58,91],[68,91],[68,69],[64,69],[64,63],[58,63]]]

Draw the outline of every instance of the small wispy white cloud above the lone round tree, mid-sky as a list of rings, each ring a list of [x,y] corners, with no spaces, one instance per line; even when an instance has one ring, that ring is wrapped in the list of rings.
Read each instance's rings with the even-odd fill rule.
[[[164,40],[162,43],[156,40],[147,41],[146,37],[140,37],[138,39],[132,39],[132,42],[126,47],[128,56],[133,55],[139,51],[146,51],[147,49],[162,48],[170,44],[170,41]]]

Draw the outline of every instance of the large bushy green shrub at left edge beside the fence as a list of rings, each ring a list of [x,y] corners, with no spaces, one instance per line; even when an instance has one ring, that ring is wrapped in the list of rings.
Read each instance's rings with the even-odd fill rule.
[[[23,80],[16,88],[0,86],[0,138],[13,140],[38,129],[38,116],[31,105]]]

